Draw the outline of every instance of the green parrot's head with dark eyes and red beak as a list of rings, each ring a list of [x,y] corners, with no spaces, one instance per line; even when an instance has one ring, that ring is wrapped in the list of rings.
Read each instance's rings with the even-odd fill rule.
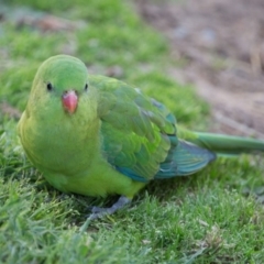
[[[57,55],[41,65],[31,89],[29,111],[40,113],[42,118],[88,112],[87,120],[92,113],[95,116],[96,109],[96,91],[90,88],[87,68],[81,61]]]

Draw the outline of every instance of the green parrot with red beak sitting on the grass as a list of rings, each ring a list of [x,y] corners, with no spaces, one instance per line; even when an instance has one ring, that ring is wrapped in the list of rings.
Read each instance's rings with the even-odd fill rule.
[[[161,102],[57,55],[38,68],[18,133],[32,164],[64,193],[120,195],[112,213],[153,179],[194,174],[218,155],[264,151],[264,141],[177,129]]]

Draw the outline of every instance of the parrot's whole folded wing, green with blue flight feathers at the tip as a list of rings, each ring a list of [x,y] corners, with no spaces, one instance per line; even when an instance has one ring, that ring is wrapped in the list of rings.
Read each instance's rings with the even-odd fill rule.
[[[176,119],[161,102],[116,79],[90,80],[99,91],[101,151],[120,173],[146,183],[195,173],[215,158],[207,150],[178,141]]]

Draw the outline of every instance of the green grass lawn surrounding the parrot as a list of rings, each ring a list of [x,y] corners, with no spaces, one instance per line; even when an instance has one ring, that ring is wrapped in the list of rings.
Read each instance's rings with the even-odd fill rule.
[[[263,262],[262,157],[222,158],[191,177],[152,183],[129,208],[84,229],[88,207],[114,198],[55,190],[16,139],[12,113],[24,109],[44,59],[69,53],[105,75],[114,66],[120,79],[166,103],[189,128],[206,128],[208,106],[191,87],[169,79],[166,68],[175,62],[166,40],[139,19],[131,2],[12,0],[1,9],[0,263]],[[53,14],[76,28],[43,32],[20,23],[21,13]]]

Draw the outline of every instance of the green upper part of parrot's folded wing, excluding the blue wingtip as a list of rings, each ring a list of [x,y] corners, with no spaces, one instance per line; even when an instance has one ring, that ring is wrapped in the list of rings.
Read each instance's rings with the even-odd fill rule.
[[[158,109],[156,101],[122,81],[94,76],[91,85],[99,91],[105,157],[122,174],[148,182],[170,148],[168,134],[176,133],[175,119],[166,109]]]

